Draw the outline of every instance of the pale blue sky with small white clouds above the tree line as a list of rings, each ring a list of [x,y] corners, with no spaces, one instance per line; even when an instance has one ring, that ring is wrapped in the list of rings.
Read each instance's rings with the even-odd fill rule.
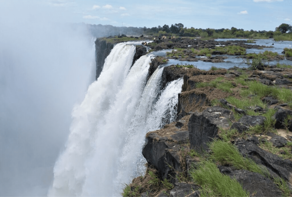
[[[8,1],[4,1],[8,2]],[[42,0],[57,22],[113,25],[117,27],[231,28],[274,31],[291,25],[292,0]],[[3,4],[3,2],[1,2]],[[9,19],[8,19],[9,20]]]

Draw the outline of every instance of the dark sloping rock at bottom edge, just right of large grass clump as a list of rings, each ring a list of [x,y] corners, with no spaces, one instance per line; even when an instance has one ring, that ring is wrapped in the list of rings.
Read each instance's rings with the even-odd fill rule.
[[[235,170],[231,167],[220,166],[220,172],[236,179],[242,188],[252,196],[282,196],[281,191],[269,178],[248,170]]]

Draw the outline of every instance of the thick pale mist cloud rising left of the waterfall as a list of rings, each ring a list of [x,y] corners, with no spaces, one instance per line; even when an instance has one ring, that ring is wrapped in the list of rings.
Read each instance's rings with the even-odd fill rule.
[[[0,2],[0,196],[46,196],[72,108],[94,80],[91,36],[61,15],[41,1]]]

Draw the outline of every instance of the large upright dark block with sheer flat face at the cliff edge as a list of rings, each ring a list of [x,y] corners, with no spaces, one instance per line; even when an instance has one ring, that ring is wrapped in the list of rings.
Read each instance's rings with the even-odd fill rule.
[[[191,147],[206,150],[206,143],[217,135],[219,128],[229,128],[228,120],[232,119],[232,111],[222,107],[210,107],[192,114],[188,123]]]

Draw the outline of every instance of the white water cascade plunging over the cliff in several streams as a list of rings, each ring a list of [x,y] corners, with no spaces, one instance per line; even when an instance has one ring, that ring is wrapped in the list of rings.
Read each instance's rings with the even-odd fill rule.
[[[174,120],[183,81],[168,84],[158,98],[163,67],[147,82],[151,55],[131,67],[134,53],[134,45],[115,45],[99,78],[73,110],[49,196],[119,196],[123,184],[144,173],[145,134],[159,129],[162,120]]]

